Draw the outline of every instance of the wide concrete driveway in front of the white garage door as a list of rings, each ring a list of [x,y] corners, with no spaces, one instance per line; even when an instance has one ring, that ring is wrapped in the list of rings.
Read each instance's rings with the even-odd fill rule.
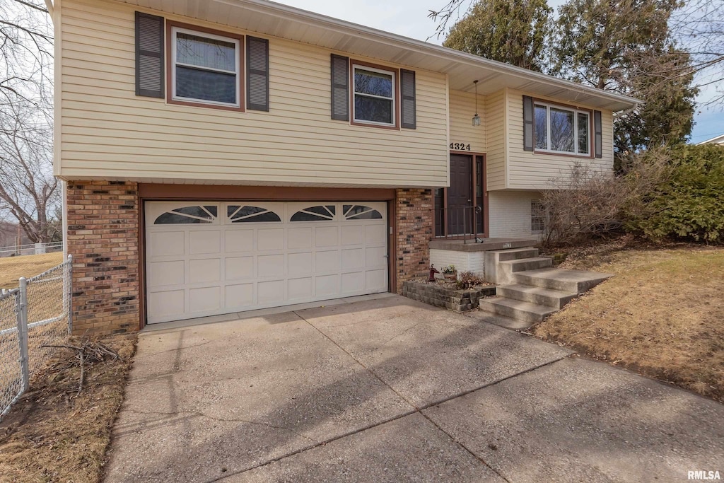
[[[106,482],[678,482],[724,406],[397,296],[145,332]]]

